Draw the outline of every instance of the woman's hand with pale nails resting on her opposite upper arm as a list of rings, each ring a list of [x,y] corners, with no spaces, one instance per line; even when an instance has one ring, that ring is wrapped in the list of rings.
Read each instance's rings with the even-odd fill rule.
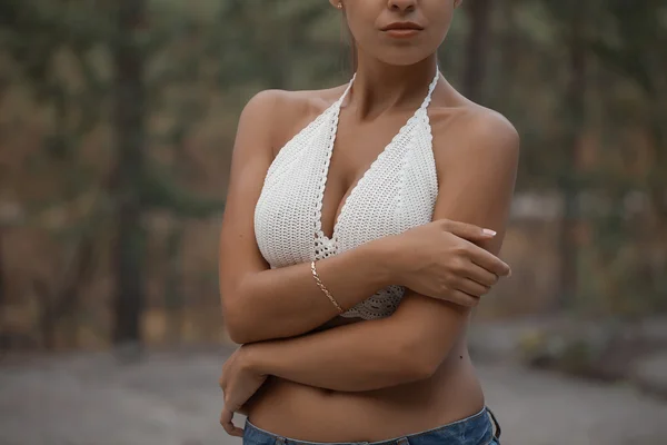
[[[439,219],[388,237],[396,253],[397,278],[419,294],[474,307],[509,266],[474,243],[489,241],[495,233]]]

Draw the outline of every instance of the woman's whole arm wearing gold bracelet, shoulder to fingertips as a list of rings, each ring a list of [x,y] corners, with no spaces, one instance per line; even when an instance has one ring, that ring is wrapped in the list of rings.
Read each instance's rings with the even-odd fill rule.
[[[305,334],[338,315],[317,286],[310,264],[271,269],[255,238],[255,206],[273,159],[273,147],[285,142],[285,136],[279,135],[285,130],[280,129],[291,128],[298,120],[295,115],[299,107],[290,103],[293,99],[287,95],[262,91],[248,102],[239,120],[232,152],[220,237],[220,295],[227,330],[239,344]],[[459,235],[467,235],[468,239],[488,237],[475,226],[458,222],[444,221],[430,230],[450,235],[446,231],[452,228],[459,230]],[[486,281],[486,290],[495,283],[489,281],[490,276],[496,278],[494,274],[502,276],[509,270],[505,263],[465,239],[451,236],[449,246],[447,243],[434,246],[432,236],[427,231],[429,228],[418,229],[421,236],[414,236],[417,235],[414,233],[406,237],[379,238],[319,260],[318,274],[338,304],[348,309],[392,284],[450,300],[456,297],[452,293],[458,291],[461,303],[474,304],[462,298],[474,299],[486,291],[471,286],[469,295],[464,295],[454,289],[455,281],[462,288],[466,284],[460,278],[460,270],[452,270],[451,279],[446,279],[448,265],[445,263],[451,263],[452,257],[434,257],[434,254],[444,254],[447,247],[456,249],[451,255],[474,256],[477,264],[490,270],[486,275],[474,271],[477,281]],[[454,266],[449,268],[454,269]],[[410,277],[404,274],[408,269]],[[436,275],[438,279],[432,279]]]

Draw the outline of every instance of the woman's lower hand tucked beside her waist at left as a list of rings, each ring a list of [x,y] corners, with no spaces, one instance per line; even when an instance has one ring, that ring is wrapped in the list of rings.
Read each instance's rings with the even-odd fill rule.
[[[243,436],[243,429],[233,425],[233,413],[241,409],[250,397],[267,379],[266,375],[256,372],[248,359],[251,345],[238,348],[222,366],[220,388],[225,394],[225,407],[220,415],[220,425],[231,436]]]

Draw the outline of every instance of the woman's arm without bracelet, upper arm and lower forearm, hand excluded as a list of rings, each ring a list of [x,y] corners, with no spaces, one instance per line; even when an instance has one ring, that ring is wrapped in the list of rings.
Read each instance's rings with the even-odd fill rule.
[[[466,137],[434,147],[440,150],[436,159],[442,166],[434,219],[496,230],[496,237],[482,247],[497,254],[515,188],[518,135],[495,113],[456,125],[464,127],[458,132]],[[408,289],[390,317],[245,345],[235,354],[233,366],[246,374],[342,392],[419,380],[432,375],[447,357],[468,315],[468,308]]]

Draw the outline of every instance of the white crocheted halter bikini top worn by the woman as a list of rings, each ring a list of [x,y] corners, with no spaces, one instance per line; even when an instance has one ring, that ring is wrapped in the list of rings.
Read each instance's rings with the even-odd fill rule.
[[[271,268],[323,259],[364,243],[431,221],[438,195],[427,113],[439,71],[421,107],[402,126],[348,194],[328,238],[322,197],[342,96],[297,134],[270,165],[255,209],[255,234]],[[392,285],[342,314],[365,319],[391,315],[405,294]]]

